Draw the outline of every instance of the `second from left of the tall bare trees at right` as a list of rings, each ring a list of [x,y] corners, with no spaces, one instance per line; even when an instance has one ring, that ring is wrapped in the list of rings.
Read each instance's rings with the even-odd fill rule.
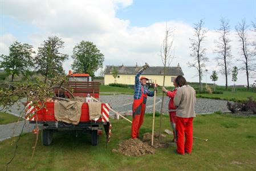
[[[228,38],[230,32],[229,21],[226,21],[224,18],[220,19],[221,25],[218,29],[218,33],[220,34],[219,39],[216,41],[216,50],[215,52],[218,54],[217,61],[218,66],[221,66],[221,74],[225,75],[226,78],[226,89],[227,89],[227,75],[230,74],[229,64],[231,62],[231,46],[230,39]]]

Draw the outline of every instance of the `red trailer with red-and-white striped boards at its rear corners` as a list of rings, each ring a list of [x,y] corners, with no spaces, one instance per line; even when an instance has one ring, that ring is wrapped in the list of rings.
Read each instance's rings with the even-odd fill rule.
[[[82,104],[82,113],[79,124],[67,124],[57,121],[54,116],[54,101],[47,101],[44,108],[39,109],[32,105],[32,101],[26,105],[26,120],[30,123],[42,124],[43,145],[52,143],[52,136],[55,132],[69,133],[91,133],[92,145],[97,145],[98,136],[101,135],[104,127],[107,141],[109,141],[111,124],[109,123],[109,104],[101,103],[101,117],[97,120],[90,120],[88,104]]]

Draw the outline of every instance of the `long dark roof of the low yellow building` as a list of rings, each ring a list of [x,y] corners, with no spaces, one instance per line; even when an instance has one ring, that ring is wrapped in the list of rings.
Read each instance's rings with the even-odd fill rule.
[[[141,68],[141,66],[114,66],[119,75],[135,75]],[[112,74],[113,66],[106,66],[105,74]],[[149,67],[143,72],[143,75],[164,75],[164,67]],[[181,67],[168,67],[166,69],[166,75],[177,76],[184,75]]]

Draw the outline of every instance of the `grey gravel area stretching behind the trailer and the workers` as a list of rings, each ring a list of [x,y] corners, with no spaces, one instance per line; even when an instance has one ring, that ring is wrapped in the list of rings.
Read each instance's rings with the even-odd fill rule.
[[[161,96],[156,97],[156,111],[160,112],[161,107]],[[25,100],[25,99],[24,99]],[[23,100],[23,101],[24,101]],[[104,103],[109,103],[111,107],[117,112],[132,112],[132,95],[102,95],[100,100]],[[164,113],[168,113],[168,103],[169,98],[165,97],[164,99]],[[214,99],[197,99],[195,111],[197,114],[200,113],[213,113],[216,111],[226,112],[226,101],[225,100],[214,100]],[[13,105],[9,113],[19,116],[24,115],[21,111],[21,108],[18,107],[18,104]],[[153,97],[148,97],[146,113],[152,113],[153,111]],[[111,113],[113,115],[113,113]],[[0,141],[9,139],[10,137],[17,136],[21,132],[24,121],[19,123],[11,123],[6,125],[0,125]],[[27,123],[23,132],[31,132],[34,129],[34,124]]]

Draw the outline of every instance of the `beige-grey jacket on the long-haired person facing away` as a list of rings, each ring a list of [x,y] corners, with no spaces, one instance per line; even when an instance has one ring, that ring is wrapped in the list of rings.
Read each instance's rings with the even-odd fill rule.
[[[196,102],[196,91],[188,85],[179,87],[173,99],[177,107],[176,116],[178,117],[196,117],[194,112],[194,103]]]

